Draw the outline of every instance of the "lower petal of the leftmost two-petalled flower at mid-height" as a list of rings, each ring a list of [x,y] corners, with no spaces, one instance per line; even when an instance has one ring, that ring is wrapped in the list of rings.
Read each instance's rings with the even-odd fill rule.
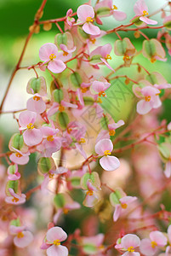
[[[43,135],[40,129],[30,129],[23,133],[24,142],[27,146],[35,146],[42,142]]]

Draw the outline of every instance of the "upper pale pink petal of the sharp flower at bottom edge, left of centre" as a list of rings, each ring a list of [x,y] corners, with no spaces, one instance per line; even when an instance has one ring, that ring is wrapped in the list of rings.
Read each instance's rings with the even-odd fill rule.
[[[60,227],[53,227],[48,230],[46,235],[47,241],[53,243],[54,240],[64,241],[67,238],[67,234]]]

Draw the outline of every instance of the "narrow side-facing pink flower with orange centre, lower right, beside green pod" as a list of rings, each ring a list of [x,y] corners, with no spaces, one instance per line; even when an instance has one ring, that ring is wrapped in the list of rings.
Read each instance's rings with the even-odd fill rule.
[[[120,204],[115,205],[113,220],[117,221],[122,212],[128,208],[128,204],[132,203],[136,199],[136,196],[123,196],[121,199],[119,199]]]

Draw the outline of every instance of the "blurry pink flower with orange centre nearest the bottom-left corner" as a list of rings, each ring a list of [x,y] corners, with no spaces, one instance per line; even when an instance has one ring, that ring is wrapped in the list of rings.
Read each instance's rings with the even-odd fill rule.
[[[14,235],[14,245],[16,247],[27,247],[33,241],[31,232],[27,231],[25,226],[10,225],[9,231],[11,235]]]

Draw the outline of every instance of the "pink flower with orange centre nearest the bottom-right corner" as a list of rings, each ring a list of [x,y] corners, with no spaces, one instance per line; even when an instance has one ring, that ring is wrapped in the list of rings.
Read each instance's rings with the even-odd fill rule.
[[[150,239],[145,238],[141,241],[140,252],[146,256],[152,256],[157,253],[158,247],[167,245],[167,237],[160,231],[152,231]]]

